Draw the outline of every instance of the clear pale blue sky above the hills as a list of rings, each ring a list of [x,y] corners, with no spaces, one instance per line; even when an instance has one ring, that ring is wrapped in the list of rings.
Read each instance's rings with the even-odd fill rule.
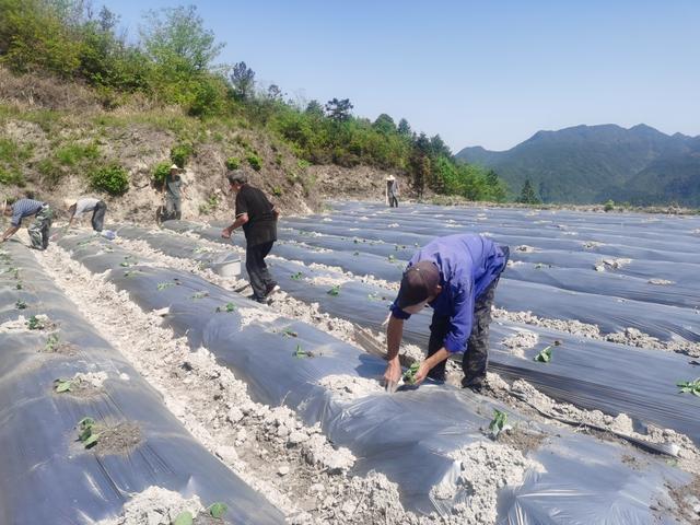
[[[261,84],[350,98],[413,130],[506,150],[540,129],[640,122],[700,135],[700,0],[94,0],[138,35],[195,3]]]

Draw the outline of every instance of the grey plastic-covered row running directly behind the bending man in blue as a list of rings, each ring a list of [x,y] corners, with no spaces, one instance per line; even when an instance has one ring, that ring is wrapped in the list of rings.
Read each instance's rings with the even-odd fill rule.
[[[197,244],[166,232],[143,229],[119,230],[129,238],[145,240],[154,249],[175,257],[187,257],[198,250]],[[198,260],[215,254],[196,255]],[[303,265],[270,258],[269,265],[281,288],[295,299],[318,303],[322,312],[345,318],[359,326],[383,330],[381,326],[394,294],[371,284],[349,281],[337,295],[328,294],[329,285],[314,284],[314,278],[342,278],[332,271],[313,270]],[[497,291],[501,293],[500,285]],[[420,314],[405,324],[405,339],[427,348],[430,315]],[[502,341],[517,332],[534,332],[539,342],[522,355]],[[552,362],[542,364],[534,358],[547,346],[560,341]],[[540,392],[564,402],[588,410],[617,416],[627,413],[638,427],[654,424],[674,429],[700,444],[698,399],[678,394],[676,383],[697,375],[697,366],[685,355],[627,347],[576,337],[570,334],[516,323],[492,323],[490,366],[502,376],[525,378]],[[623,370],[625,374],[619,371]],[[650,376],[649,371],[655,373]]]

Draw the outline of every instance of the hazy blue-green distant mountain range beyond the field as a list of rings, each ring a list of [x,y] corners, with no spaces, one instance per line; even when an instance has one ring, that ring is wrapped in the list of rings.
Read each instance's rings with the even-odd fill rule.
[[[508,151],[472,147],[455,156],[494,170],[515,197],[529,179],[544,202],[700,207],[700,136],[644,124],[538,131]]]

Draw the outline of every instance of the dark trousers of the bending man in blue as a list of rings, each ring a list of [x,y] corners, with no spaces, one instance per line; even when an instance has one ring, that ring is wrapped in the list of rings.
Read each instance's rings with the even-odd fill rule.
[[[499,277],[475,301],[471,334],[467,341],[467,349],[462,357],[462,370],[464,371],[462,386],[480,386],[486,380],[486,369],[489,364],[491,306],[493,305],[493,295],[498,283]],[[448,331],[450,317],[433,315],[433,320],[430,325],[428,357],[443,347]],[[436,364],[428,373],[428,376],[433,380],[445,381],[445,364],[446,361]]]

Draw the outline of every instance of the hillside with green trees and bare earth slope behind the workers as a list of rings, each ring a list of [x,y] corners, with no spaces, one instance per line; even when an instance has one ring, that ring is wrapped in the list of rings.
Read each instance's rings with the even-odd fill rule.
[[[150,12],[129,36],[106,8],[0,0],[0,183],[120,196],[174,161],[195,177],[244,166],[285,200],[313,196],[307,166],[335,164],[396,173],[418,196],[505,197],[494,173],[456,163],[406,119],[355,116],[342,96],[292,100],[244,61],[220,63],[194,7]]]

